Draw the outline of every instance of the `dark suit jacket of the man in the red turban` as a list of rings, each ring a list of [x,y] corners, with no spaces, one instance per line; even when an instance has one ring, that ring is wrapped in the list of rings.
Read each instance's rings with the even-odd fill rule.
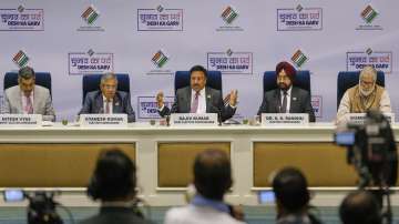
[[[315,112],[310,104],[309,92],[300,88],[293,86],[290,96],[289,113],[308,113],[309,121],[315,122]],[[257,114],[260,115],[262,113],[279,113],[280,102],[279,89],[265,92]]]

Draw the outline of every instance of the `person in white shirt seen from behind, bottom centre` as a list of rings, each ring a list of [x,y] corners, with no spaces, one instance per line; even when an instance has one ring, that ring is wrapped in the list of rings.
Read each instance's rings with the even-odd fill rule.
[[[232,167],[226,153],[218,150],[200,153],[194,162],[196,194],[188,205],[171,208],[165,224],[242,223],[237,218],[243,218],[243,214],[223,201],[232,184]]]

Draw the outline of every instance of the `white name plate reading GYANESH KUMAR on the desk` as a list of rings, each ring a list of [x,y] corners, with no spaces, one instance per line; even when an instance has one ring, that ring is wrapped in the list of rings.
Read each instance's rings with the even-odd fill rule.
[[[126,128],[127,114],[81,114],[79,123],[83,128]]]

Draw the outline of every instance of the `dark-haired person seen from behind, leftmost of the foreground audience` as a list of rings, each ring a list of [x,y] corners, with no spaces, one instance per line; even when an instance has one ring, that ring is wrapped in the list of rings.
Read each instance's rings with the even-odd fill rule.
[[[101,201],[100,213],[81,224],[150,224],[136,204],[136,167],[119,149],[100,154],[88,194]]]

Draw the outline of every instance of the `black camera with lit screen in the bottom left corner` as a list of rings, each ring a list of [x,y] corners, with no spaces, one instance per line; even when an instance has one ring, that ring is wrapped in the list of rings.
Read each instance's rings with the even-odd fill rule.
[[[6,202],[22,202],[25,198],[28,205],[28,224],[62,224],[61,216],[55,208],[60,205],[54,201],[57,192],[25,192],[22,190],[6,190]]]

